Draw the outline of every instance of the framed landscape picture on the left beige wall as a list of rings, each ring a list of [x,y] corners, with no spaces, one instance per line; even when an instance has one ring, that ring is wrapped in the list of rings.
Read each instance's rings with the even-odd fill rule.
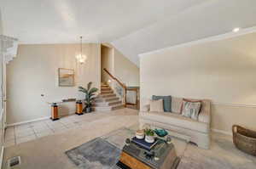
[[[74,86],[74,70],[59,68],[58,81],[59,81],[59,87],[73,87]]]

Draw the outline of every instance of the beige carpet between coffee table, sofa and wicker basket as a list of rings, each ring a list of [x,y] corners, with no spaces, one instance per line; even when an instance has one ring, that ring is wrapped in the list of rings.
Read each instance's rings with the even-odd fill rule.
[[[189,144],[177,169],[255,169],[256,158],[236,149],[226,138],[213,138],[211,149]]]

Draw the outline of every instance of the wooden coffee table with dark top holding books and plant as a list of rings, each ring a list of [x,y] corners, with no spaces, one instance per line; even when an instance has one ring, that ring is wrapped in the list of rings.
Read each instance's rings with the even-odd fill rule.
[[[174,169],[178,161],[174,144],[160,139],[150,151],[134,143],[125,145],[117,166],[123,169]]]

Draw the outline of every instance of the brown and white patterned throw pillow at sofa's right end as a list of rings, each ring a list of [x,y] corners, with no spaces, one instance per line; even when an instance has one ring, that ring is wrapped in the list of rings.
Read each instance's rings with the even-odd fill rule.
[[[183,99],[183,105],[182,105],[182,115],[189,117],[194,120],[198,120],[198,115],[201,110],[201,100],[188,100]]]

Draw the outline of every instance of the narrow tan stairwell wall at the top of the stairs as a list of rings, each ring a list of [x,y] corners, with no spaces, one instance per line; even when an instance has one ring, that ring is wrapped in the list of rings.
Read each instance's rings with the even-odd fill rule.
[[[104,68],[113,74],[113,48],[102,45],[102,82],[108,82],[109,76]]]

